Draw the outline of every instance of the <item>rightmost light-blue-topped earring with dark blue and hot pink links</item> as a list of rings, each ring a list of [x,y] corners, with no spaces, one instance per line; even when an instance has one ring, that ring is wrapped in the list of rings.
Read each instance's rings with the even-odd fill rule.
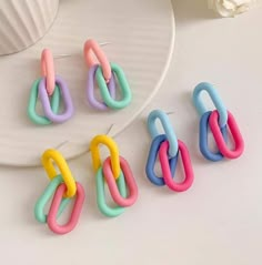
[[[216,110],[208,111],[201,101],[201,93],[206,92],[213,101]],[[239,130],[234,116],[229,112],[221,100],[218,91],[210,83],[203,82],[195,86],[193,92],[193,104],[198,110],[200,119],[199,147],[202,155],[210,161],[218,162],[226,159],[238,159],[244,151],[244,140]],[[213,134],[219,151],[216,153],[209,149],[208,134],[209,128]],[[230,150],[228,145],[229,130],[234,141],[234,149]]]

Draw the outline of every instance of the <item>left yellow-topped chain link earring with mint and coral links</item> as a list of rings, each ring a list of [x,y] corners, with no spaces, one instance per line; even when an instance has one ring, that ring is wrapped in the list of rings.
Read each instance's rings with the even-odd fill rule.
[[[56,163],[60,173],[57,172],[53,163]],[[85,197],[84,190],[80,183],[75,182],[66,160],[57,150],[47,150],[42,155],[42,164],[50,183],[34,206],[34,216],[40,223],[48,223],[49,228],[56,234],[69,233],[78,224]],[[74,197],[75,201],[69,222],[59,225],[57,218]],[[49,213],[46,215],[44,207],[51,198],[52,203]]]

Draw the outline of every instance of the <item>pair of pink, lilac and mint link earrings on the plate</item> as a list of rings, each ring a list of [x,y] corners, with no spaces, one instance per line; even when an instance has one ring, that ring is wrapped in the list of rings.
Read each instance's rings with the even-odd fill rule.
[[[87,99],[90,105],[98,110],[109,108],[119,110],[128,106],[132,94],[123,70],[118,64],[108,61],[105,53],[94,40],[88,40],[84,43],[83,55],[89,67]],[[53,55],[48,49],[44,49],[41,54],[41,73],[42,77],[36,80],[31,88],[28,115],[33,123],[40,125],[63,123],[73,115],[73,104],[67,83],[61,77],[56,75]],[[104,102],[99,102],[94,98],[95,84]],[[121,100],[117,100],[118,85]],[[37,113],[38,99],[44,115]]]

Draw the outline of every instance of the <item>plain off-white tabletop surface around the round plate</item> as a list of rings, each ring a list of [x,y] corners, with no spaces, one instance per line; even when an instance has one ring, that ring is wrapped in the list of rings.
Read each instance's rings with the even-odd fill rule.
[[[103,217],[85,154],[69,163],[87,191],[80,223],[72,233],[57,236],[32,215],[48,183],[44,172],[1,167],[1,264],[262,263],[262,10],[214,19],[203,11],[205,1],[192,2],[175,1],[177,47],[161,91],[115,139],[137,176],[137,204],[117,218]],[[236,161],[214,164],[199,154],[191,92],[200,81],[218,85],[239,122],[246,149]],[[155,187],[144,175],[150,145],[144,119],[155,108],[174,111],[171,121],[191,151],[195,182],[187,193]]]

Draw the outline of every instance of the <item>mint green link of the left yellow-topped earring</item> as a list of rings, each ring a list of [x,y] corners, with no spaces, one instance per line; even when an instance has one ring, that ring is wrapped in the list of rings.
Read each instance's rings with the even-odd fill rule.
[[[38,202],[34,206],[34,217],[40,223],[47,223],[47,215],[44,214],[44,206],[49,202],[49,200],[52,197],[54,192],[57,191],[58,186],[63,182],[63,179],[61,175],[56,176],[47,186],[42,195],[39,197]],[[60,204],[59,211],[58,211],[58,217],[62,214],[67,205],[69,204],[71,198],[64,197],[62,198],[62,202]]]

